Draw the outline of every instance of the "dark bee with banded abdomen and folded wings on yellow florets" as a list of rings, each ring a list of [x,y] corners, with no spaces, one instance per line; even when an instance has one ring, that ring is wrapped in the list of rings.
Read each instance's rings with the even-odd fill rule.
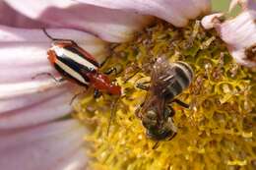
[[[157,58],[152,67],[145,101],[137,110],[137,116],[142,120],[149,138],[160,141],[175,137],[177,128],[172,119],[175,111],[171,103],[189,107],[175,97],[191,84],[193,75],[187,63],[169,63],[164,56]]]

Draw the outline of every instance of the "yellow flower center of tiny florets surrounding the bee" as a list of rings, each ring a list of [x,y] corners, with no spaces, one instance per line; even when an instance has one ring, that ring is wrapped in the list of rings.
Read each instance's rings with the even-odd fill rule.
[[[255,167],[256,73],[235,64],[214,30],[204,30],[198,21],[186,28],[158,21],[138,32],[134,40],[110,47],[102,70],[118,68],[111,78],[122,86],[122,97],[114,104],[114,96],[95,99],[89,94],[75,115],[92,129],[86,137],[92,143],[89,155],[95,158],[89,169]],[[177,96],[190,108],[171,104],[176,111],[176,137],[159,142],[154,149],[156,142],[147,137],[135,114],[147,91],[136,85],[151,80],[144,66],[162,54],[170,62],[190,64],[195,78]],[[114,118],[107,134],[110,112]]]

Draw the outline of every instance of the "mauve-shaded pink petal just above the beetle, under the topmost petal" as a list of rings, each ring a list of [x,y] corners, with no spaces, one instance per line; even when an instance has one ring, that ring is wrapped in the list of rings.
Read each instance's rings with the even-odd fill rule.
[[[149,17],[121,10],[81,4],[71,0],[51,1],[7,0],[24,15],[58,28],[90,31],[102,39],[114,42],[128,40],[134,32],[149,24]]]

